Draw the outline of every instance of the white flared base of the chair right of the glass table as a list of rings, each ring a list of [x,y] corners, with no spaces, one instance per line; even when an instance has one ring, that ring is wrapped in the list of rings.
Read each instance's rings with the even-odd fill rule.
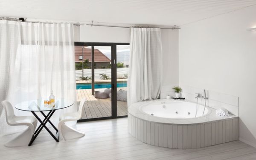
[[[61,132],[60,135],[62,135],[64,140],[71,140],[84,136],[84,132],[73,129],[70,126],[67,126],[65,123],[63,123],[59,129]]]

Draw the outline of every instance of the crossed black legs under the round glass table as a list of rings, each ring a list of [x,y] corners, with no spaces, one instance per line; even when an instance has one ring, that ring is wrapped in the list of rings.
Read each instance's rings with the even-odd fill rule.
[[[31,112],[32,112],[32,114],[36,117],[36,119],[37,119],[41,124],[38,126],[38,129],[36,129],[36,131],[35,131],[35,133],[34,133],[32,139],[31,139],[30,142],[29,142],[29,146],[32,145],[32,143],[34,142],[35,138],[38,136],[38,134],[41,132],[41,130],[42,130],[43,128],[45,128],[45,129],[49,132],[49,134],[53,137],[53,139],[54,139],[56,142],[59,142],[58,129],[57,129],[57,128],[52,124],[52,122],[50,121],[50,118],[52,117],[52,114],[55,112],[55,110],[49,111],[49,113],[48,113],[47,115],[45,115],[45,114],[41,111],[41,114],[43,114],[43,116],[45,117],[43,121],[37,116],[37,114],[35,114],[34,111],[31,111]],[[52,127],[56,130],[56,135],[57,135],[57,137],[56,137],[54,134],[52,134],[52,132],[47,128],[47,126],[46,126],[46,123],[47,123],[47,122],[49,122],[49,123],[52,125]]]

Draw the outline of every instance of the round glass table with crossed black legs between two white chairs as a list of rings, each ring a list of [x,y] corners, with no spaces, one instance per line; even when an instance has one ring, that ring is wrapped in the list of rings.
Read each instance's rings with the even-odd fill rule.
[[[35,130],[31,138],[31,141],[29,143],[29,146],[32,145],[35,138],[38,136],[38,134],[41,132],[43,128],[45,128],[49,132],[49,134],[53,137],[53,139],[56,140],[56,142],[59,142],[59,131],[52,124],[52,122],[50,121],[50,118],[52,117],[52,114],[54,114],[56,110],[70,107],[73,104],[74,104],[74,101],[72,100],[56,99],[54,105],[48,105],[48,104],[44,104],[43,99],[37,99],[37,100],[24,101],[15,105],[16,109],[19,109],[21,111],[30,111],[36,117],[36,119],[41,123],[38,126],[38,128]],[[47,114],[44,114],[44,111],[49,111],[49,112]],[[35,112],[40,112],[44,116],[44,120],[41,120]],[[50,125],[55,129],[56,134],[53,134],[47,128],[46,126],[47,123],[50,123]]]

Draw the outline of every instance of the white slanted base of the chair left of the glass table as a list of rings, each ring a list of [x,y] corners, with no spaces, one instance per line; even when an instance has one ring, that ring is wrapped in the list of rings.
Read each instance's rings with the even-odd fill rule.
[[[17,137],[5,143],[6,147],[20,147],[20,146],[28,146],[29,142],[33,136],[33,131],[29,127],[21,132]]]

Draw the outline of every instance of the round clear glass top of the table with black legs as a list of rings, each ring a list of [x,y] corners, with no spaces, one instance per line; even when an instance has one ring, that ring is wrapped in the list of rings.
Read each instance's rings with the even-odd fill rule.
[[[72,100],[66,100],[66,99],[56,99],[55,105],[48,105],[44,104],[43,99],[38,100],[28,100],[21,103],[18,103],[15,105],[16,109],[22,110],[22,111],[51,111],[51,110],[57,110],[57,109],[64,109],[69,106],[72,106],[74,104],[74,101]]]

